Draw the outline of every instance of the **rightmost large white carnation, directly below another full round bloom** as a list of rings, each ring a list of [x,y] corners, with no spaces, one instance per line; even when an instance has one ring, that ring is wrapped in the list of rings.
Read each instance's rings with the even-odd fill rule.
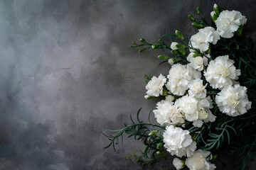
[[[220,111],[230,116],[242,115],[251,108],[252,102],[248,100],[247,88],[235,84],[226,86],[215,97],[215,101]]]

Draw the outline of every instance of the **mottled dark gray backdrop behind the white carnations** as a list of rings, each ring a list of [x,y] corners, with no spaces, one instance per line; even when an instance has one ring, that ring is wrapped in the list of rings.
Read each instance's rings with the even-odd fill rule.
[[[155,107],[144,99],[143,74],[170,68],[156,67],[157,55],[169,52],[129,45],[175,30],[188,38],[197,31],[188,13],[201,6],[209,19],[214,3],[242,12],[247,34],[256,35],[254,0],[0,1],[0,169],[144,169],[124,160],[143,149],[140,141],[102,149],[101,131]]]

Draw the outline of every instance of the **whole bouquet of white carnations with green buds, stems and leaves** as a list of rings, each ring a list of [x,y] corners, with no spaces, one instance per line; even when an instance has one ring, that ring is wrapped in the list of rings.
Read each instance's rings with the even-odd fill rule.
[[[196,11],[200,15],[200,8]],[[159,125],[140,120],[139,109],[136,122],[131,116],[131,125],[107,135],[107,147],[117,145],[125,132],[144,140],[146,147],[137,158],[144,165],[171,154],[176,169],[211,170],[218,154],[228,152],[245,169],[246,160],[256,154],[256,54],[253,40],[242,35],[247,18],[239,11],[220,11],[216,4],[210,13],[212,23],[188,18],[199,28],[188,42],[176,30],[158,43],[142,38],[142,43],[130,46],[142,47],[139,52],[171,50],[170,56],[158,56],[171,64],[166,77],[144,75],[145,98],[161,100],[153,111]],[[170,47],[164,38],[169,38]]]

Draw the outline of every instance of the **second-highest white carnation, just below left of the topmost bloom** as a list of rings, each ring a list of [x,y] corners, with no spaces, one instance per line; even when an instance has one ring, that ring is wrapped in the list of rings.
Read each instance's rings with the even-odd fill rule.
[[[209,48],[209,44],[213,43],[214,45],[217,41],[220,40],[220,35],[212,27],[206,27],[199,29],[199,32],[191,36],[191,45],[192,47],[205,52]]]

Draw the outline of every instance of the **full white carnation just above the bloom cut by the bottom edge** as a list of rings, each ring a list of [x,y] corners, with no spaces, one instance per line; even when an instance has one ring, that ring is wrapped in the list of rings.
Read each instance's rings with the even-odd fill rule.
[[[196,150],[196,142],[193,142],[188,130],[167,126],[163,134],[164,147],[171,155],[178,157],[191,157]]]

